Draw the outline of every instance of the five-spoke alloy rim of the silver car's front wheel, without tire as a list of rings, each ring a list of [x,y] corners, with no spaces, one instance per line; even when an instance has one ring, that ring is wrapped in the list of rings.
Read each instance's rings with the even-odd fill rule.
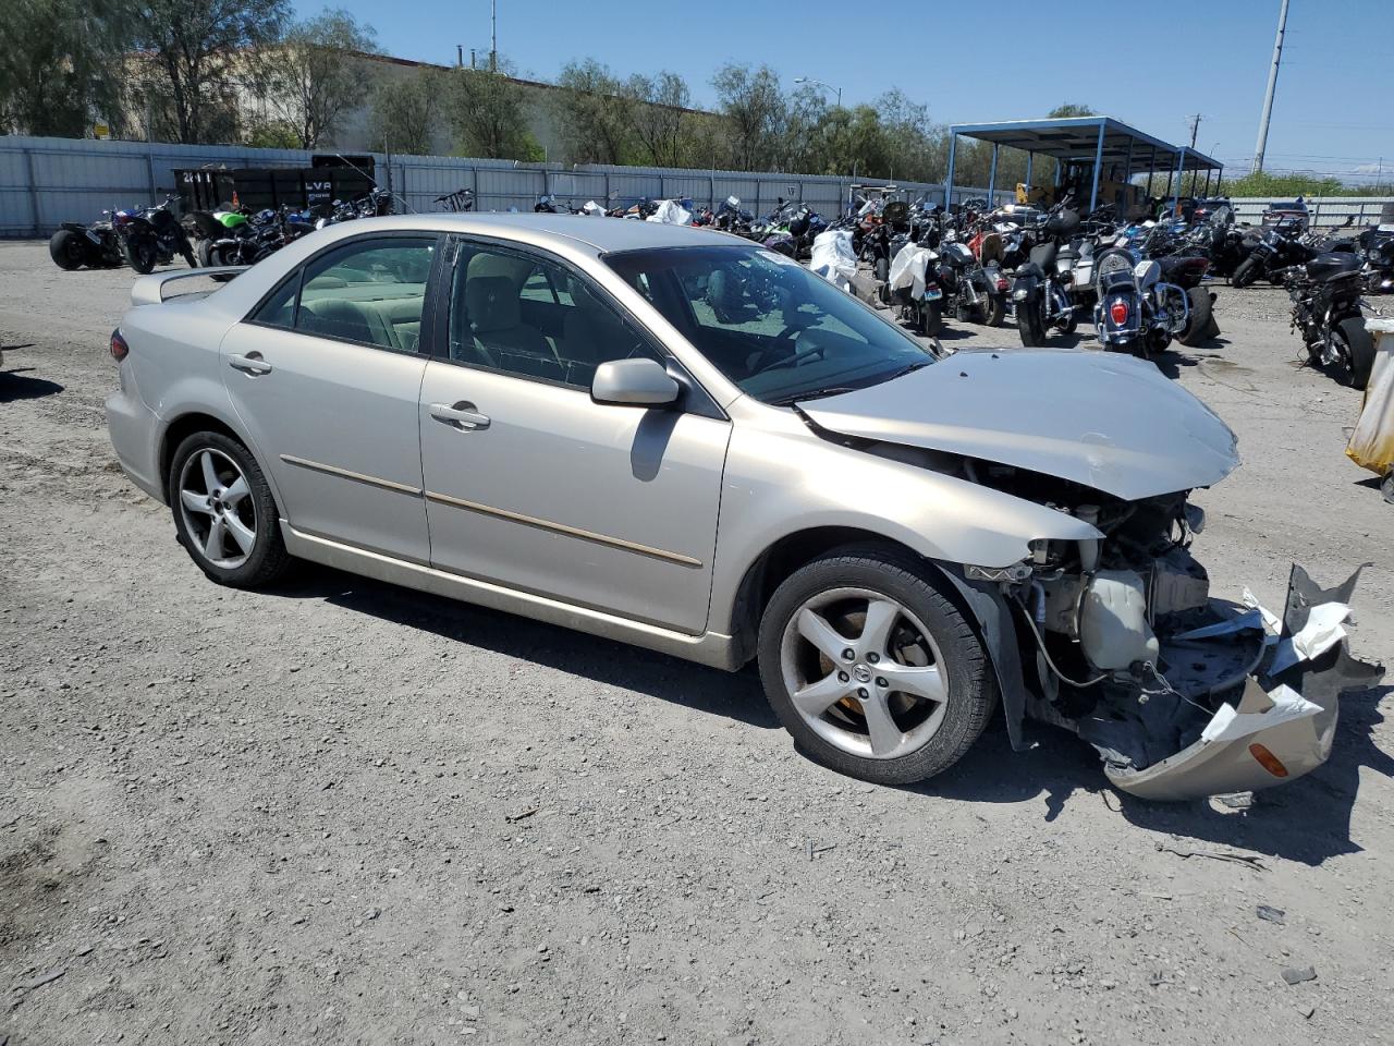
[[[896,600],[866,589],[804,601],[785,628],[779,667],[809,727],[863,759],[917,752],[948,708],[948,675],[930,630]]]

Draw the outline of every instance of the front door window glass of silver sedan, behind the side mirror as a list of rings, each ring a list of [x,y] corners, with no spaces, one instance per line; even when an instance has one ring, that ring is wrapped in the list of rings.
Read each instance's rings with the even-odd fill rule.
[[[609,360],[662,361],[650,340],[570,269],[464,244],[450,291],[450,358],[588,389]]]

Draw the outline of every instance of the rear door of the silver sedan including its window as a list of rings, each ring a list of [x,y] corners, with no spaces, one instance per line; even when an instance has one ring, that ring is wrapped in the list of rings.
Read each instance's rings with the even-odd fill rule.
[[[224,338],[223,379],[300,531],[427,562],[417,403],[435,234],[355,237]]]

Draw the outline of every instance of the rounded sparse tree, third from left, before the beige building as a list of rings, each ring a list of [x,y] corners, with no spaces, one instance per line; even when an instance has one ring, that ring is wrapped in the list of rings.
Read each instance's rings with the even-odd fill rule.
[[[300,148],[332,139],[344,114],[362,105],[369,82],[360,56],[374,52],[372,26],[339,8],[296,22],[263,50],[258,77],[268,107],[294,128]]]

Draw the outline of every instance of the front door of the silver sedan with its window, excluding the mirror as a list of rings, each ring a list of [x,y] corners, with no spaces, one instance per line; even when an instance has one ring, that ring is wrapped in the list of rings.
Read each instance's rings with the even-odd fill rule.
[[[450,280],[421,388],[432,565],[701,633],[729,421],[696,386],[594,403],[608,360],[690,378],[560,261],[466,241]]]

